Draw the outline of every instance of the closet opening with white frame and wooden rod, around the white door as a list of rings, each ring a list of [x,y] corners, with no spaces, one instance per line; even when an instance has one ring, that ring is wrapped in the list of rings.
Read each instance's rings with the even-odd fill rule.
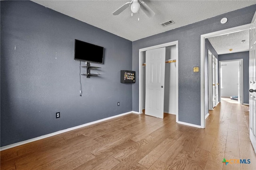
[[[166,43],[162,45],[165,48],[165,68],[164,68],[164,94],[163,94],[163,112],[176,115],[176,122],[178,122],[178,41]],[[148,47],[140,49],[140,113],[147,115],[146,100],[148,99],[146,93],[146,51],[159,49]],[[155,70],[156,71],[156,70]],[[146,99],[147,98],[147,99]],[[151,102],[152,103],[152,102]],[[157,117],[157,116],[156,116]]]

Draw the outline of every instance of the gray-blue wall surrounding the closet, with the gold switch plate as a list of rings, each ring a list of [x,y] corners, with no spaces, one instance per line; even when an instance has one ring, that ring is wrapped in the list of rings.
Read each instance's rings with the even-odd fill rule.
[[[200,72],[193,72],[193,67],[200,66],[200,35],[248,24],[255,10],[256,5],[250,6],[133,41],[132,70],[139,71],[139,49],[178,40],[179,121],[200,125]],[[228,22],[221,24],[220,20],[224,17],[228,18]],[[132,85],[132,103],[132,109],[139,111],[138,81]]]

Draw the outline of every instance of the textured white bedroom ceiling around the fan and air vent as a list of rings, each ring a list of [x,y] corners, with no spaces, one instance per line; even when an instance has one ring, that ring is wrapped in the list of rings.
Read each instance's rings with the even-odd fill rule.
[[[153,18],[148,18],[141,10],[131,16],[129,7],[117,16],[112,15],[131,0],[32,1],[130,41],[256,4],[256,0],[145,0],[156,13]],[[160,25],[169,20],[175,23],[166,27]]]

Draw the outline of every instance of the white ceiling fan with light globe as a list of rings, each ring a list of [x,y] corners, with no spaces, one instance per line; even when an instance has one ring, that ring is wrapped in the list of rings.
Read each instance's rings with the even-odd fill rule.
[[[142,9],[145,14],[151,18],[153,17],[156,13],[152,11],[145,2],[140,2],[139,0],[132,0],[132,2],[126,2],[123,6],[118,8],[115,12],[113,12],[113,15],[116,16],[123,12],[128,6],[131,6],[131,11],[132,13],[137,13],[139,12],[140,9]]]

